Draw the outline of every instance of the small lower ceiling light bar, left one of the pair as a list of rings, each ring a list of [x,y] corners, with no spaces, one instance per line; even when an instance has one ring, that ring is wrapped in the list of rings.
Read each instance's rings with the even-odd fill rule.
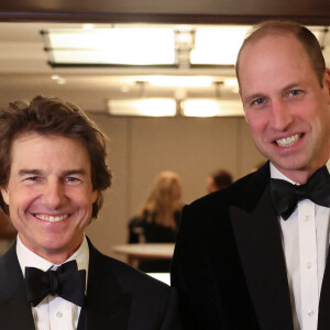
[[[108,100],[108,111],[113,116],[173,117],[176,101],[166,98]]]

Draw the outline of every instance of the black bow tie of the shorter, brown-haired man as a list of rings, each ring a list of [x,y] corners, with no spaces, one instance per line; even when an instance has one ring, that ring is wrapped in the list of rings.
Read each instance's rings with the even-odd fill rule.
[[[47,295],[82,306],[85,298],[86,271],[78,271],[76,261],[63,264],[56,271],[43,272],[25,267],[28,301],[37,306]]]

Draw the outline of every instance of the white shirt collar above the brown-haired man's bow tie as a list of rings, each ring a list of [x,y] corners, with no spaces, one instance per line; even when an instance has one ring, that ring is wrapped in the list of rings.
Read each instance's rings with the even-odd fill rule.
[[[53,266],[59,266],[54,265],[50,261],[41,257],[40,255],[32,252],[30,249],[28,249],[22,241],[20,240],[20,235],[18,235],[16,240],[16,254],[19,258],[19,263],[23,273],[23,276],[25,276],[25,267],[35,267],[38,270],[42,270],[44,272],[48,271]],[[88,263],[89,263],[89,249],[87,239],[84,235],[84,240],[79,246],[79,249],[65,262],[75,260],[77,262],[78,270],[85,270],[86,271],[86,279],[88,276]]]

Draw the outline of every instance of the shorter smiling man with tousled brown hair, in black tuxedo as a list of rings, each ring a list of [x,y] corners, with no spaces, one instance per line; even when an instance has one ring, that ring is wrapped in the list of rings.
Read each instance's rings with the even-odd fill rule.
[[[0,206],[19,232],[0,258],[1,330],[180,328],[168,286],[84,234],[110,184],[103,134],[78,107],[0,110]]]

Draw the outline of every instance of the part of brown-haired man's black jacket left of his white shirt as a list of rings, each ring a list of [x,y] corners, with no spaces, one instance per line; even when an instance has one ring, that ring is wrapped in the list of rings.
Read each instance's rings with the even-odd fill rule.
[[[0,329],[34,330],[15,244],[0,261]]]

